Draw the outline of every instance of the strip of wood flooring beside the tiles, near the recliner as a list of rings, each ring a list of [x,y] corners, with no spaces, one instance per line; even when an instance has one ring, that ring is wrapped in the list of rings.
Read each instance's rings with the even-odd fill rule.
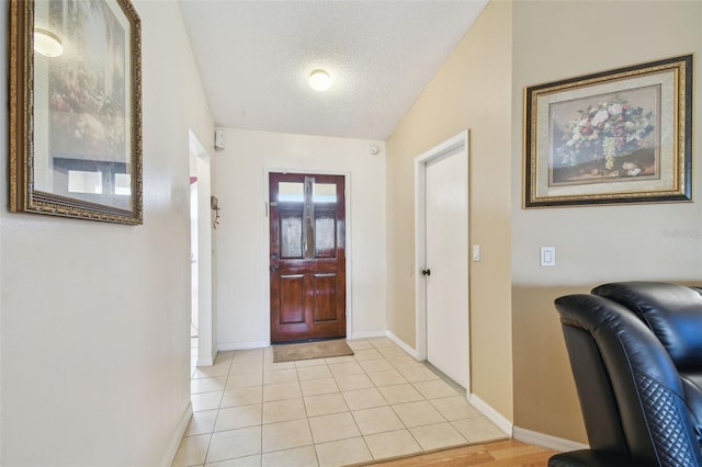
[[[362,465],[382,467],[544,467],[548,463],[548,457],[554,454],[556,454],[555,451],[545,447],[506,440]]]

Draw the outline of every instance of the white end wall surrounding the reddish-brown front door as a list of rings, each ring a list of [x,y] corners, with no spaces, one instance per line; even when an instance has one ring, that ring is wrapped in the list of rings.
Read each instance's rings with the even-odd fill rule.
[[[349,337],[385,332],[385,145],[242,129],[225,130],[213,194],[217,241],[218,349],[270,343],[265,170],[348,174]],[[381,151],[369,152],[371,145]]]

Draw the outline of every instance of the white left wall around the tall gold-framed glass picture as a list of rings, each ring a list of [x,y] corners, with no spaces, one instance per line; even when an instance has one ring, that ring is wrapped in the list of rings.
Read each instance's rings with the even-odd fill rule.
[[[188,130],[211,141],[214,125],[178,3],[134,4],[143,22],[144,225],[9,213],[0,176],[1,465],[163,465],[184,429]],[[3,31],[7,20],[2,0]],[[7,98],[1,86],[0,102]],[[2,130],[3,168],[8,147]]]

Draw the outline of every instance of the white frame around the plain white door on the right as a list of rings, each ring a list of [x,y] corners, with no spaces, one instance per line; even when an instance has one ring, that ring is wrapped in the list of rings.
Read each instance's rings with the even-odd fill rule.
[[[469,204],[469,174],[471,174],[471,164],[468,158],[468,143],[469,143],[469,134],[468,130],[465,129],[460,134],[453,136],[452,138],[446,139],[444,143],[434,146],[426,152],[417,156],[415,158],[415,330],[416,330],[416,354],[417,358],[420,361],[427,360],[427,286],[424,276],[421,274],[421,271],[426,267],[427,261],[427,164],[449,155],[454,155],[458,152],[460,157],[465,158],[467,173],[466,181],[468,183],[466,193],[466,231],[468,232],[468,238],[466,238],[466,242],[469,247],[471,244],[471,223],[469,223],[469,214],[471,214],[471,204]],[[468,314],[468,384],[466,387],[467,394],[471,394],[471,293],[469,293],[469,284],[471,284],[471,267],[468,262],[468,250],[466,248],[466,254],[464,261],[468,265],[468,309],[466,312]]]

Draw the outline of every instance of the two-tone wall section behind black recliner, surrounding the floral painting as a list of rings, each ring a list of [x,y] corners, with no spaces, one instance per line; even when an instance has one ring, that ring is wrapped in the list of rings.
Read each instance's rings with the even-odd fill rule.
[[[524,87],[695,53],[702,72],[702,2],[516,1],[512,82],[512,324],[514,423],[586,442],[563,337],[559,295],[607,281],[702,278],[702,186],[693,150],[694,203],[521,208]],[[695,95],[694,107],[702,103]],[[693,134],[702,129],[699,111]],[[699,148],[699,137],[694,137]],[[475,174],[474,174],[475,175]],[[676,232],[671,235],[670,232]],[[556,267],[539,265],[555,246]]]

